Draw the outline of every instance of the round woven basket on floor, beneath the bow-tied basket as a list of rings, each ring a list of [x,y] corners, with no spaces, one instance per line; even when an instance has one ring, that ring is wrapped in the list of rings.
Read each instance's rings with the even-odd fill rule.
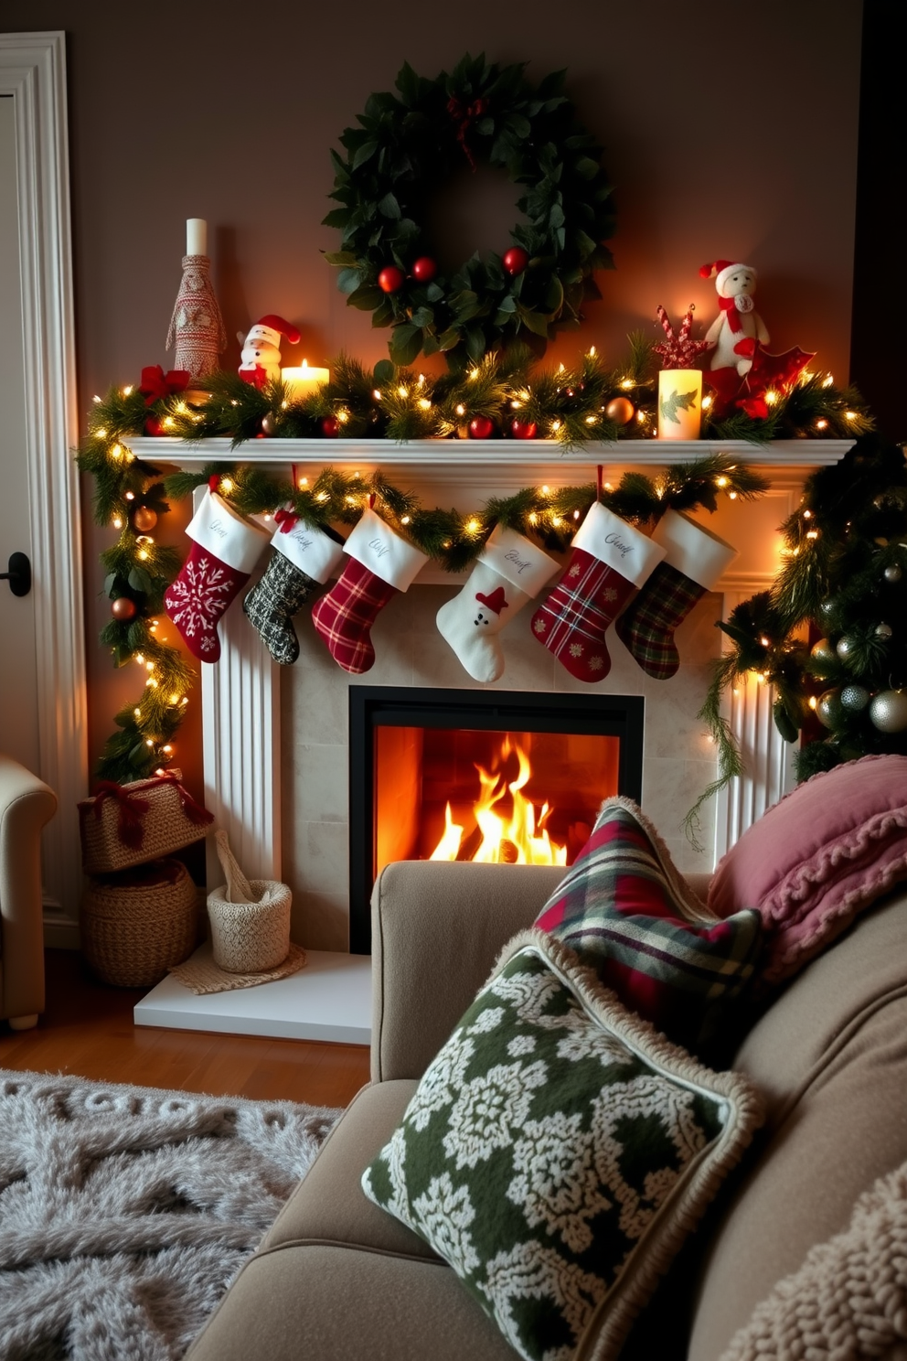
[[[178,860],[90,878],[82,898],[82,953],[105,983],[148,988],[199,945],[199,894]]]

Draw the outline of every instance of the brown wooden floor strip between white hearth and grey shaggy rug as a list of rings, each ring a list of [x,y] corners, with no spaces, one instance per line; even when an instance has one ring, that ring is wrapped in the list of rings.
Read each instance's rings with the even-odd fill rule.
[[[133,1026],[148,989],[99,983],[76,950],[48,950],[46,977],[37,1029],[0,1021],[0,1068],[326,1106],[348,1105],[369,1081],[364,1045]]]

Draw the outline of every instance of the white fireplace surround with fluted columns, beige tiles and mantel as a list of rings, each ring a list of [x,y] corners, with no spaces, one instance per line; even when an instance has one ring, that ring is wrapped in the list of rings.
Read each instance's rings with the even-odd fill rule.
[[[775,531],[795,506],[804,478],[815,465],[836,461],[849,444],[789,441],[760,450],[728,442],[627,441],[560,457],[544,441],[405,446],[333,441],[329,448],[324,441],[275,441],[268,446],[262,441],[242,449],[243,460],[281,471],[294,461],[309,475],[328,461],[358,468],[363,475],[381,465],[390,482],[417,493],[423,505],[456,505],[462,510],[529,482],[592,482],[597,461],[604,464],[605,479],[616,483],[628,467],[651,465],[655,475],[666,463],[688,461],[708,449],[737,453],[771,479],[771,490],[756,501],[744,505],[722,498],[714,516],[702,516],[740,548],[740,558],[677,630],[681,667],[670,680],[646,676],[613,629],[608,633],[611,674],[593,686],[574,680],[532,636],[528,607],[502,634],[504,674],[483,687],[462,670],[435,626],[438,608],[460,591],[465,574],[450,577],[434,565],[423,569],[407,595],[392,600],[379,615],[371,633],[377,661],[364,676],[349,676],[337,667],[307,610],[294,621],[299,660],[286,668],[271,661],[242,611],[228,611],[220,622],[222,660],[203,667],[201,678],[205,802],[218,825],[228,832],[246,874],[279,878],[292,889],[294,939],[313,950],[348,950],[348,691],[355,685],[642,695],[642,806],[681,871],[713,868],[785,791],[790,754],[771,721],[768,694],[748,685],[732,698],[728,713],[748,773],[726,796],[706,806],[700,848],[685,840],[683,815],[715,774],[714,747],[696,719],[710,664],[721,649],[722,634],[715,623],[738,600],[768,585],[776,568]],[[205,441],[204,446],[171,440],[135,440],[132,445],[155,464],[201,467],[237,457],[228,441],[220,440]],[[620,464],[613,461],[616,457]],[[208,868],[209,883],[220,882],[216,859]]]

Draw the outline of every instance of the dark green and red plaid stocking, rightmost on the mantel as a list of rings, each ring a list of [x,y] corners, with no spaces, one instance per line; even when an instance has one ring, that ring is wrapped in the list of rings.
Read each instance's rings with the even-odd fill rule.
[[[665,558],[615,629],[646,675],[668,680],[680,667],[674,629],[717,584],[737,550],[679,510],[666,510],[651,538],[665,548]]]

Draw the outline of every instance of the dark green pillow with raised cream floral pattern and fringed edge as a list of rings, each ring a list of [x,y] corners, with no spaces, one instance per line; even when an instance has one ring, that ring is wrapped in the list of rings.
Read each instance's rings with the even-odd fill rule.
[[[759,1105],[541,931],[517,936],[366,1169],[526,1361],[615,1357]]]

